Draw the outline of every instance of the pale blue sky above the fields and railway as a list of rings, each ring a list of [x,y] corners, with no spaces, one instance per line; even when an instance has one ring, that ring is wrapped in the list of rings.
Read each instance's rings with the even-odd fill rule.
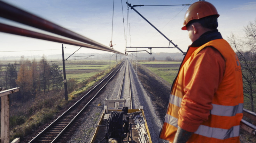
[[[113,0],[4,0],[23,10],[45,18],[55,24],[63,26],[80,35],[91,38],[96,42],[108,46],[112,33]],[[182,5],[194,3],[197,0],[128,0],[132,5]],[[255,0],[207,0],[218,10],[219,32],[224,39],[233,32],[243,37],[243,29],[249,21],[256,19]],[[124,52],[127,46],[168,47],[169,42],[160,35],[152,26],[142,19],[134,10],[129,8],[129,20],[127,20],[126,0],[115,0],[113,44],[114,49]],[[135,7],[145,18],[157,27],[166,37],[177,44],[181,50],[186,51],[191,44],[187,31],[181,30],[184,14],[188,7],[185,6],[144,6]],[[124,14],[124,24],[123,24]],[[3,23],[33,29],[14,23],[3,18]],[[127,28],[128,21],[128,28]],[[125,25],[125,27],[124,27]],[[124,32],[127,41],[125,42]],[[33,56],[61,54],[61,43],[47,42],[39,39],[0,33],[0,57],[7,55]],[[65,53],[73,53],[79,47],[64,45]],[[172,45],[171,45],[172,46]],[[26,51],[28,50],[28,51]],[[34,51],[44,50],[44,51]],[[128,48],[128,51],[135,50]],[[142,49],[140,49],[142,50]],[[146,49],[143,49],[146,50]],[[26,51],[26,52],[21,52]],[[81,48],[78,53],[101,52],[89,48]],[[152,52],[179,52],[177,49],[153,49]]]

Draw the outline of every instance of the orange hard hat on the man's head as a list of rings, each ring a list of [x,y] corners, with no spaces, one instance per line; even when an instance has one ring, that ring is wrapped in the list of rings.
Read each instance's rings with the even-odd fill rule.
[[[189,6],[184,17],[184,23],[182,30],[187,30],[186,25],[189,21],[194,19],[200,19],[211,15],[217,15],[219,17],[217,9],[210,2],[197,1]]]

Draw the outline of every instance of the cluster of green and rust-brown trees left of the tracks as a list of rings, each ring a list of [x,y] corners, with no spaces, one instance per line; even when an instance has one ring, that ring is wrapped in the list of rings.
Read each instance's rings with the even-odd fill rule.
[[[19,65],[19,66],[17,66]],[[2,68],[2,66],[0,66]],[[2,69],[0,74],[0,87],[7,89],[20,87],[21,97],[26,99],[28,95],[46,93],[47,91],[57,91],[63,87],[63,77],[61,70],[56,63],[49,65],[45,56],[40,62],[24,59],[21,56],[19,63],[8,63],[6,69]]]

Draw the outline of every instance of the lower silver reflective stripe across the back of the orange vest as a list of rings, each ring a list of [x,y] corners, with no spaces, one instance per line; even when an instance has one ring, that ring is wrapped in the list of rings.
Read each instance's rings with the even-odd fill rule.
[[[218,138],[224,140],[230,137],[239,136],[239,125],[233,126],[230,129],[212,128],[204,125],[200,125],[195,134],[199,134],[206,137]]]

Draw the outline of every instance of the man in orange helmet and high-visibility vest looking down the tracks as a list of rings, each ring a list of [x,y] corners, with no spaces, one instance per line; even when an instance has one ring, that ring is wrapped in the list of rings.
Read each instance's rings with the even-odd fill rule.
[[[171,88],[160,138],[170,143],[239,143],[243,82],[238,57],[218,32],[216,8],[193,3],[182,30],[188,47]]]

